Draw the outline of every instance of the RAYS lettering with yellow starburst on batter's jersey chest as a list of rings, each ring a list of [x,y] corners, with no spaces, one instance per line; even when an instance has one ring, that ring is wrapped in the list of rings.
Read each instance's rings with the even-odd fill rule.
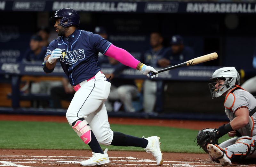
[[[61,49],[61,57],[60,61],[65,64],[75,64],[78,60],[83,60],[85,58],[84,49],[77,49],[68,51],[65,49]]]

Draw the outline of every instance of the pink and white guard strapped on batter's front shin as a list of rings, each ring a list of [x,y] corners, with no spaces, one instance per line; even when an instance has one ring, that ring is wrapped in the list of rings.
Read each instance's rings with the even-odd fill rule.
[[[91,142],[91,128],[85,120],[76,121],[76,124],[72,128],[85,144]]]

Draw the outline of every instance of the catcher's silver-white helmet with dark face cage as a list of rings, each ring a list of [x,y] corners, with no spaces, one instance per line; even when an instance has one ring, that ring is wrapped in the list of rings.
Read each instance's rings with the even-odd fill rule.
[[[233,88],[236,84],[240,84],[240,75],[236,71],[235,67],[223,67],[217,69],[212,74],[211,79],[223,80],[224,83],[219,84],[219,87],[215,88],[217,82],[209,83],[212,98],[220,97],[223,93]]]

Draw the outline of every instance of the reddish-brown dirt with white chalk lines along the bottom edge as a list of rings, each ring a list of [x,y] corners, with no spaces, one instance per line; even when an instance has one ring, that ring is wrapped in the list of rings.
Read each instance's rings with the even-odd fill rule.
[[[0,149],[0,166],[80,166],[79,162],[92,156],[88,150],[12,150]],[[146,152],[108,151],[110,167],[156,166],[152,155]],[[244,166],[243,164],[234,164]],[[164,153],[163,166],[196,167],[221,166],[213,163],[207,154]],[[255,165],[247,165],[256,167]]]

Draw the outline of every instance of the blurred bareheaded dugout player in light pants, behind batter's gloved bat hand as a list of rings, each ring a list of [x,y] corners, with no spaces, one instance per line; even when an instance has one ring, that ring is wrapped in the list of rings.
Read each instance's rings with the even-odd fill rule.
[[[159,32],[150,34],[150,46],[144,54],[144,62],[153,67],[167,67],[170,62],[165,57],[163,36]],[[146,113],[153,113],[156,104],[156,81],[146,79],[143,83],[143,108]]]

